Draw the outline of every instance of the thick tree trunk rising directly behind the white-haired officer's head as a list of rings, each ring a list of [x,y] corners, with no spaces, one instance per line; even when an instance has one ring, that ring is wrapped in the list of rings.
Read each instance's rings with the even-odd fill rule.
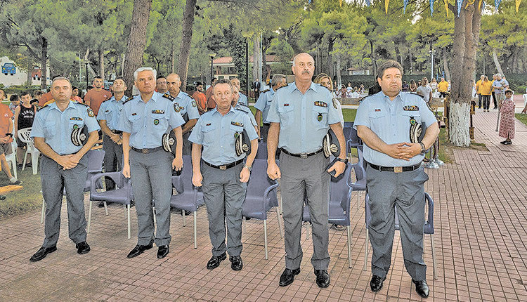
[[[131,18],[130,35],[126,44],[124,61],[124,83],[126,95],[131,96],[134,87],[134,72],[143,64],[146,44],[146,27],[150,18],[152,0],[134,0],[134,12]]]

